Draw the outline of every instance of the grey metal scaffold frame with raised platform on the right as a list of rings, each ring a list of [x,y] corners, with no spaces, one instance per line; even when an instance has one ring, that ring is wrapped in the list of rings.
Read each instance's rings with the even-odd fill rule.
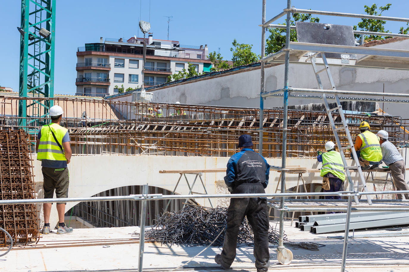
[[[265,12],[266,12],[266,1],[262,1],[262,20],[261,20],[261,88],[260,88],[260,131],[259,131],[259,150],[262,153],[263,152],[263,109],[264,109],[264,103],[263,99],[266,97],[281,97],[283,96],[283,145],[282,145],[282,164],[281,167],[285,168],[285,163],[286,163],[286,152],[287,152],[287,131],[288,131],[288,126],[287,126],[287,121],[288,121],[288,98],[289,97],[304,97],[304,98],[320,98],[318,96],[310,97],[309,95],[300,95],[299,93],[315,93],[315,94],[321,94],[322,97],[326,97],[328,99],[329,97],[326,96],[327,94],[334,95],[335,100],[337,101],[338,104],[338,109],[339,112],[342,112],[341,107],[339,107],[339,97],[338,95],[371,95],[373,96],[383,96],[383,97],[405,97],[408,98],[409,94],[397,94],[397,93],[369,93],[369,92],[359,92],[359,91],[338,91],[335,90],[335,85],[332,86],[330,90],[324,90],[323,88],[321,89],[307,89],[307,88],[290,88],[289,87],[289,66],[290,63],[299,63],[299,64],[313,64],[314,61],[308,62],[308,60],[312,60],[314,57],[316,57],[319,53],[322,53],[321,55],[324,55],[325,53],[344,53],[344,54],[357,54],[361,55],[361,58],[358,58],[356,61],[353,61],[351,64],[349,64],[350,67],[363,67],[363,68],[375,68],[375,69],[399,69],[399,70],[409,70],[409,51],[408,50],[396,50],[396,49],[379,49],[379,48],[367,48],[367,47],[357,47],[357,46],[343,46],[343,45],[332,45],[332,44],[314,44],[314,43],[301,43],[301,42],[290,42],[290,30],[294,26],[290,25],[291,22],[291,13],[304,13],[304,14],[317,14],[317,15],[332,15],[332,16],[342,16],[342,17],[349,17],[349,18],[360,18],[360,19],[374,19],[374,20],[390,20],[390,21],[399,21],[399,22],[409,22],[409,18],[396,18],[396,17],[388,17],[388,16],[378,16],[378,15],[363,15],[363,14],[354,14],[354,13],[341,13],[341,12],[328,12],[328,11],[316,11],[316,10],[310,10],[310,9],[296,9],[294,7],[291,7],[291,0],[287,0],[287,8],[283,9],[281,13],[278,15],[274,16],[270,20],[266,21],[265,20]],[[270,54],[268,56],[265,56],[265,31],[269,27],[276,27],[276,25],[271,24],[272,22],[276,21],[277,19],[283,17],[284,15],[286,16],[286,22],[287,24],[285,25],[286,29],[286,37],[285,37],[285,46],[283,49],[280,51]],[[282,27],[280,27],[282,28]],[[380,35],[380,36],[392,36],[392,37],[409,37],[408,35],[403,36],[402,34],[387,34],[387,33],[380,33],[380,32],[367,32],[367,31],[359,31],[362,37],[364,34],[368,35]],[[363,39],[362,39],[363,41]],[[291,52],[291,53],[290,53]],[[302,61],[302,57],[308,53],[311,52],[310,55],[305,57],[305,59]],[[295,55],[293,55],[295,54]],[[378,57],[380,61],[373,61],[371,60],[371,57]],[[283,59],[284,57],[284,59]],[[295,58],[294,58],[295,57]],[[383,60],[386,58],[393,58],[394,61],[390,61],[389,63],[386,63],[385,61],[382,62],[382,57],[384,57]],[[368,61],[369,60],[369,61]],[[317,58],[317,63],[319,65],[326,65],[325,69],[329,69],[328,64],[330,65],[336,65],[336,66],[347,66],[345,62],[342,61],[337,61],[336,59],[333,60],[328,60],[328,63],[325,63],[325,56],[322,57],[321,62],[318,61]],[[264,79],[264,64],[265,62],[278,62],[278,63],[284,63],[285,68],[284,68],[284,88],[281,88],[279,90],[275,91],[270,91],[270,92],[265,92],[265,79]],[[355,65],[356,64],[356,65]],[[322,70],[321,70],[322,71]],[[319,73],[319,72],[318,72]],[[317,76],[317,72],[315,73]],[[330,73],[328,73],[328,76],[330,77]],[[319,76],[317,76],[317,81],[318,84],[320,84]],[[321,87],[321,86],[320,86]],[[293,94],[290,94],[292,92]],[[296,94],[294,94],[296,93]],[[298,94],[297,94],[298,93]],[[344,97],[345,98],[345,97]],[[362,98],[364,101],[367,98]],[[351,100],[360,100],[358,97],[351,97]],[[383,99],[380,98],[371,98],[371,101],[384,101]],[[393,102],[397,103],[407,103],[408,100],[394,100]],[[332,110],[328,110],[327,112],[330,113]],[[333,126],[333,128],[335,128]],[[337,128],[335,128],[337,129]],[[344,128],[346,131],[348,130],[347,127]],[[336,136],[336,131],[335,131],[335,136]],[[341,146],[339,146],[341,148]],[[350,146],[351,148],[351,146]],[[341,150],[341,149],[340,149]],[[341,150],[342,151],[342,150]],[[354,156],[354,160],[356,161],[356,155]],[[360,170],[359,165],[357,166],[358,170]],[[354,188],[355,190],[355,188]],[[281,193],[285,192],[285,172],[282,173],[281,175]],[[355,191],[356,192],[356,191]],[[280,206],[277,208],[277,210],[280,210],[280,239],[279,239],[279,247],[277,250],[279,251],[279,254],[285,254],[288,249],[286,249],[283,246],[283,221],[284,221],[284,197],[281,197],[280,201]],[[348,230],[349,230],[349,221],[350,221],[350,216],[351,216],[351,197],[348,197],[348,212],[347,212],[347,218],[346,218],[346,229],[345,229],[345,239],[344,239],[344,249],[343,249],[343,256],[342,256],[342,268],[341,271],[345,271],[345,262],[346,262],[346,250],[347,250],[347,244],[348,244]],[[291,254],[292,255],[292,254]]]

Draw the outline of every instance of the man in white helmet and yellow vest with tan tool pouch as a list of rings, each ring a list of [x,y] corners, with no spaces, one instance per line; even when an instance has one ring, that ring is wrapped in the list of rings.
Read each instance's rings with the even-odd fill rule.
[[[320,176],[324,178],[322,188],[324,192],[338,192],[343,188],[342,184],[345,180],[344,163],[341,154],[335,151],[334,142],[326,142],[325,150],[327,152],[318,152],[317,156],[317,160],[322,162],[320,172]],[[341,199],[341,197],[339,195],[326,195],[325,199]]]

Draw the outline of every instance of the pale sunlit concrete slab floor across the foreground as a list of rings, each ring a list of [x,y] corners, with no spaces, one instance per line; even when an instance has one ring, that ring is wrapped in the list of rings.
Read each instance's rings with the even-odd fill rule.
[[[278,227],[276,222],[272,226]],[[406,230],[409,230],[407,228]],[[0,271],[134,271],[138,266],[139,241],[133,237],[138,227],[76,229],[70,234],[58,235],[55,231],[43,235],[40,242],[28,246],[16,245],[7,255],[0,257]],[[361,233],[379,233],[372,230]],[[357,233],[357,232],[355,232]],[[319,243],[319,251],[289,247],[294,254],[290,265],[276,260],[276,247],[270,247],[270,269],[285,271],[339,271],[343,240],[329,240],[326,234],[301,232],[285,222],[289,242]],[[328,234],[328,236],[342,233]],[[109,247],[104,247],[109,245]],[[143,267],[149,271],[177,268],[187,263],[205,246],[172,246],[145,243]],[[1,252],[1,251],[0,251]],[[214,256],[221,248],[209,247],[184,266],[184,271],[220,271]],[[240,246],[233,270],[254,271],[253,248]],[[347,270],[353,271],[409,271],[409,237],[354,239],[348,243]]]

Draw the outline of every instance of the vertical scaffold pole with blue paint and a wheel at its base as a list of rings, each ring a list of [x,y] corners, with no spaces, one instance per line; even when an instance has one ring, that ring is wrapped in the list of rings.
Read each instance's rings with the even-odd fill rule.
[[[291,21],[291,0],[287,0],[287,22]],[[285,47],[290,45],[290,24],[287,24],[285,33]],[[285,159],[287,157],[287,121],[288,121],[288,81],[290,72],[290,51],[285,51],[284,68],[284,102],[283,102],[283,152],[281,153],[281,167],[285,168]],[[281,174],[281,193],[285,193],[285,172]],[[277,250],[282,251],[284,247],[284,197],[280,201],[280,237]]]

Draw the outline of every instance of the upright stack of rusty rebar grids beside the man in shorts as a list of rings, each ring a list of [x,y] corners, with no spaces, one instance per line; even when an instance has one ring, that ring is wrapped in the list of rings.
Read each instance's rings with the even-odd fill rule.
[[[0,130],[0,199],[35,199],[31,169],[31,147],[24,130]],[[38,214],[34,204],[0,205],[0,227],[13,240],[40,239]],[[0,245],[6,245],[0,233]]]

